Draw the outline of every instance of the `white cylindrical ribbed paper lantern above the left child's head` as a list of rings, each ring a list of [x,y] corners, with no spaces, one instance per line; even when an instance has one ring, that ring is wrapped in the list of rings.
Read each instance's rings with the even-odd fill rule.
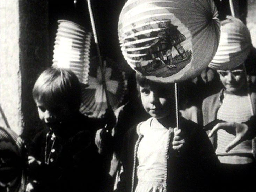
[[[67,20],[58,21],[58,30],[53,50],[53,66],[69,68],[80,83],[88,83],[89,54],[92,32]]]

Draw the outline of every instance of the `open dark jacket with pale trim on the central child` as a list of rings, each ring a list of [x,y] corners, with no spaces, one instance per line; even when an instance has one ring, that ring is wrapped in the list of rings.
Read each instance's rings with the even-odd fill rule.
[[[178,154],[171,145],[174,134],[170,138],[167,156],[167,192],[215,191],[218,186],[219,160],[208,136],[196,123],[183,117],[180,119],[180,125],[187,139],[182,152]],[[120,176],[118,192],[131,192],[132,185],[134,185],[133,191],[136,189],[138,179],[134,168],[137,167],[138,160],[134,155],[136,153],[134,148],[141,136],[137,126],[132,127],[125,135],[121,158],[124,172]]]

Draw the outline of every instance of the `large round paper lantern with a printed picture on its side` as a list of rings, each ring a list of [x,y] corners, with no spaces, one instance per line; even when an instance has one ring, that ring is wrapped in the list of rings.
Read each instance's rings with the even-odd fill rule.
[[[124,58],[153,81],[193,78],[217,51],[217,15],[212,0],[128,0],[118,23]]]

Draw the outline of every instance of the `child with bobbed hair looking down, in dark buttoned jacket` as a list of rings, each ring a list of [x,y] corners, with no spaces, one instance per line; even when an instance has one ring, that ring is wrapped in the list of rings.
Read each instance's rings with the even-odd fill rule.
[[[76,75],[68,69],[46,69],[35,83],[33,97],[45,128],[30,145],[27,191],[97,191],[92,125],[79,112]]]

